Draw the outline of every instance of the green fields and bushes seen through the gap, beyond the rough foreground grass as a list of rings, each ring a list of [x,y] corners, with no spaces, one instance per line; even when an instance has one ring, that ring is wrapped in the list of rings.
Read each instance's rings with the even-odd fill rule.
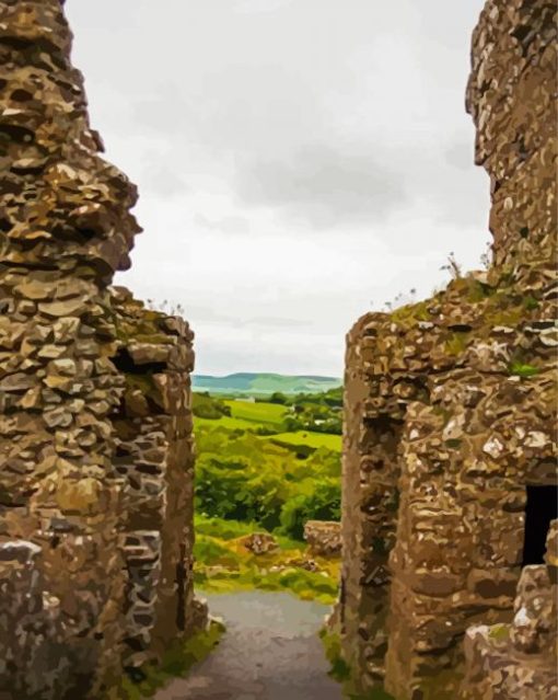
[[[299,541],[306,520],[340,518],[341,436],[318,432],[339,426],[338,405],[322,394],[288,404],[194,398],[199,515]]]

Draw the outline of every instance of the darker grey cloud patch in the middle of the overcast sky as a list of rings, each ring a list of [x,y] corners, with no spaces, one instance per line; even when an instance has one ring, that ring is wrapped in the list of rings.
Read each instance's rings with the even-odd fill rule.
[[[272,207],[315,228],[367,226],[409,202],[403,177],[370,152],[327,145],[301,148],[290,160],[254,160],[239,168],[240,200]]]

